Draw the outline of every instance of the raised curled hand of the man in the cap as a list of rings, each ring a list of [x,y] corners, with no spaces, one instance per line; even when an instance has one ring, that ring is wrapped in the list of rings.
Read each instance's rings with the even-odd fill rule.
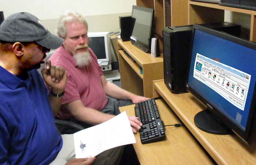
[[[44,81],[51,87],[53,93],[58,94],[65,90],[67,84],[67,73],[63,67],[53,66],[51,65],[51,61],[48,60],[41,73]]]

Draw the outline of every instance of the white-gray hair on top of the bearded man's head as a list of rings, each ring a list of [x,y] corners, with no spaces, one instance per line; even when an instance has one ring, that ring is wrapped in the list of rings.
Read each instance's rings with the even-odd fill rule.
[[[87,24],[87,21],[86,21],[86,19],[83,15],[79,14],[76,11],[66,11],[57,20],[56,34],[58,36],[61,36],[61,37],[65,38],[66,35],[67,35],[67,30],[66,30],[66,27],[65,27],[65,23],[74,22],[74,21],[84,23],[84,25],[86,27],[86,30],[88,31],[88,24]]]

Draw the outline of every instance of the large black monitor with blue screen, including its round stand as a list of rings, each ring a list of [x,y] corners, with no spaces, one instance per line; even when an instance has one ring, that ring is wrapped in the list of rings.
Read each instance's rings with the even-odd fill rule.
[[[245,141],[251,139],[255,59],[256,43],[193,25],[187,89],[208,108],[195,116],[197,127],[213,134],[233,130]]]

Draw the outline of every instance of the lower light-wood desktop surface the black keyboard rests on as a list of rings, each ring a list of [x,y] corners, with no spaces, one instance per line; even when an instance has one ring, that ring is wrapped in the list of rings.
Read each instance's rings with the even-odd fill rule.
[[[165,125],[180,123],[173,111],[162,99],[156,100],[159,114]],[[135,105],[120,107],[127,115],[134,116]],[[142,145],[139,133],[133,144],[141,165],[212,165],[207,154],[188,133],[185,127],[165,127],[166,139]]]

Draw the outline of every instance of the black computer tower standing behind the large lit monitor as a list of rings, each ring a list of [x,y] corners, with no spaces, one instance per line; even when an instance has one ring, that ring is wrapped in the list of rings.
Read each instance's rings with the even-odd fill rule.
[[[203,26],[240,37],[241,26],[229,22],[206,23]],[[164,82],[172,93],[187,92],[188,59],[191,47],[192,25],[163,29]]]

